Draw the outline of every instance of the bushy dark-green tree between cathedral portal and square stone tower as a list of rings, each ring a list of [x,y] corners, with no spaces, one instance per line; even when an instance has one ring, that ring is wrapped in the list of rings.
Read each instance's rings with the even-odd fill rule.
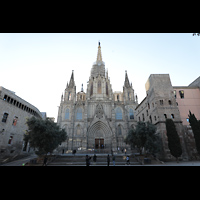
[[[136,129],[131,129],[129,131],[125,142],[132,147],[137,146],[140,150],[140,154],[143,148],[145,148],[146,152],[155,154],[160,151],[161,147],[159,137],[156,134],[156,126],[149,122],[138,122]]]

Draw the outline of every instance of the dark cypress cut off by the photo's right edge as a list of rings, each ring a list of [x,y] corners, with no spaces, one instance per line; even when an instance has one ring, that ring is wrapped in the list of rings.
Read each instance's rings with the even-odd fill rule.
[[[194,114],[189,111],[189,122],[192,127],[192,131],[194,134],[196,149],[198,154],[200,154],[200,121],[197,120]]]

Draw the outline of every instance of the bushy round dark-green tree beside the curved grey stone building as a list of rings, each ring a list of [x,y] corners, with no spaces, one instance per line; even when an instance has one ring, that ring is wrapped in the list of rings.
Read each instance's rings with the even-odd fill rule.
[[[32,117],[27,120],[28,133],[24,135],[24,141],[29,142],[30,147],[36,148],[37,155],[52,153],[59,144],[67,138],[67,133],[64,129],[53,121],[38,119]]]

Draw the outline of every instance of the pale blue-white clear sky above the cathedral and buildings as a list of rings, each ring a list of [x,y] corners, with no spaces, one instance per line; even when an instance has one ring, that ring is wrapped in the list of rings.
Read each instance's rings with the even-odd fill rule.
[[[192,33],[1,33],[0,86],[57,121],[72,70],[76,92],[87,89],[98,41],[114,91],[123,91],[125,70],[139,103],[150,74],[170,74],[173,86],[200,76],[200,36]]]

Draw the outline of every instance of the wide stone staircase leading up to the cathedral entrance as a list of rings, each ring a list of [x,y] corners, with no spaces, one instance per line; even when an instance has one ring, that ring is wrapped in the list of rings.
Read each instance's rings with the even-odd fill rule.
[[[107,156],[108,154],[96,154],[96,162],[93,161],[94,154],[88,154],[90,159],[90,166],[107,166]],[[140,163],[131,155],[130,165],[140,165]],[[124,154],[115,155],[115,166],[125,166],[126,156]],[[54,161],[49,162],[48,166],[86,166],[86,154],[65,154],[59,155]],[[110,155],[110,166],[113,166],[112,155]]]

